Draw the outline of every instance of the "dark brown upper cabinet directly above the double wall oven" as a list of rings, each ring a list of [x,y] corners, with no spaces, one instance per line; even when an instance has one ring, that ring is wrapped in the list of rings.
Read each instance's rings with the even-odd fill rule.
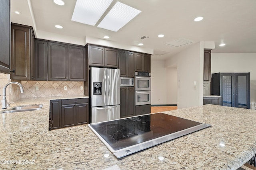
[[[135,71],[150,72],[150,55],[135,53]]]

